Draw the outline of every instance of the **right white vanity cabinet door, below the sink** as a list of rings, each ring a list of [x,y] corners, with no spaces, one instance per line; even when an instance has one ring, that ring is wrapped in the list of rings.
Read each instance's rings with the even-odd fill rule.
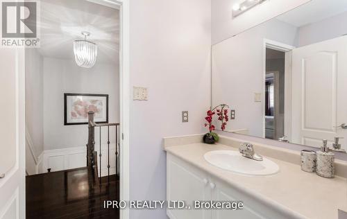
[[[212,200],[214,201],[241,201],[244,202],[244,208],[236,211],[229,210],[212,210],[212,219],[230,219],[230,218],[247,218],[247,219],[289,219],[293,218],[286,213],[277,211],[267,204],[255,200],[255,198],[242,193],[232,186],[212,179],[215,188],[212,189]]]

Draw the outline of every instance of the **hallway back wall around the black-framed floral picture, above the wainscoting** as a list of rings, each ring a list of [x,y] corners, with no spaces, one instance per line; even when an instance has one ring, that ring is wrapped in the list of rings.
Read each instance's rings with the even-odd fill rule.
[[[91,69],[74,60],[44,58],[44,150],[85,146],[87,125],[64,125],[64,93],[109,94],[109,122],[119,122],[118,63],[96,63]],[[115,132],[115,128],[110,129]],[[107,133],[103,132],[103,143]],[[115,142],[115,134],[111,134]],[[99,132],[96,132],[99,143]]]

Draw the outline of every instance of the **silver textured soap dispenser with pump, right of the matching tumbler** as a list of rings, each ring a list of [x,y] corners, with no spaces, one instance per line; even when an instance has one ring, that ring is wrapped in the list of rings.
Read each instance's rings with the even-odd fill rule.
[[[328,141],[323,140],[323,146],[321,150],[316,152],[317,155],[317,166],[316,173],[321,177],[333,178],[335,175],[334,153],[329,151]]]

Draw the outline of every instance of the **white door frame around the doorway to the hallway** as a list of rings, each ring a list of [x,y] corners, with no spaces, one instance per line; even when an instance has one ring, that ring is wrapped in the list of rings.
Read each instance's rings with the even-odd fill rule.
[[[128,201],[130,200],[130,86],[129,86],[129,0],[85,0],[93,3],[98,3],[103,6],[108,6],[110,8],[116,8],[120,10],[120,43],[119,43],[119,123],[120,125],[120,142],[119,142],[119,159],[120,159],[120,169],[119,169],[119,198],[120,200]],[[25,59],[17,60],[17,68],[20,69],[19,76],[24,76],[25,69],[22,66],[25,63]],[[25,96],[25,82],[21,81],[19,86],[19,94]],[[25,100],[20,98],[20,112],[24,114],[25,112]],[[22,105],[23,104],[23,105]],[[25,137],[25,116],[19,116],[19,124],[21,125],[21,132]],[[24,124],[24,125],[22,125]],[[23,139],[23,138],[22,138]],[[22,148],[25,148],[25,140],[20,141]],[[25,151],[25,150],[22,150]],[[21,202],[20,211],[24,213],[25,218],[25,157],[21,156],[19,160],[19,166],[22,166],[22,191],[19,193],[23,194]],[[129,209],[122,209],[120,211],[121,219],[128,219]]]

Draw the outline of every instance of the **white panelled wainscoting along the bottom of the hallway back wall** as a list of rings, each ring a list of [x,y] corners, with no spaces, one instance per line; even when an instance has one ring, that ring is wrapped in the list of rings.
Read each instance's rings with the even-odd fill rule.
[[[95,147],[98,152],[98,166],[100,168],[99,146]],[[116,144],[110,143],[110,174],[115,174],[116,170]],[[108,145],[101,145],[101,176],[108,175]],[[42,156],[42,168],[38,167],[39,173],[47,173],[48,168],[51,172],[59,170],[69,170],[87,166],[87,147],[76,146],[56,150],[44,150]],[[99,173],[98,169],[98,173]],[[99,173],[100,174],[100,173]]]

